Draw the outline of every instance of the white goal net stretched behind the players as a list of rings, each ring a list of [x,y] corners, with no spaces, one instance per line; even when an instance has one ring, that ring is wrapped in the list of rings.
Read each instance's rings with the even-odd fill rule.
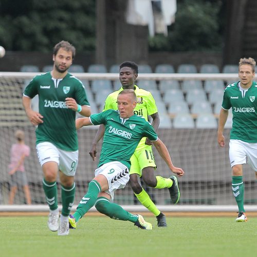
[[[38,162],[35,151],[35,133],[34,127],[28,122],[22,106],[22,93],[24,85],[28,83],[35,74],[29,72],[0,72],[0,186],[1,186],[1,204],[8,204],[10,192],[10,175],[8,174],[8,164],[10,162],[11,145],[15,142],[14,132],[21,129],[25,132],[25,143],[30,146],[30,156],[25,160],[25,170],[29,182],[32,204],[45,204],[45,196],[42,188],[42,170]],[[74,74],[80,78],[86,87],[89,102],[92,105],[93,113],[101,111],[103,101],[109,90],[114,90],[117,83],[117,74]],[[149,88],[156,99],[161,116],[161,125],[158,130],[160,139],[167,145],[175,166],[183,168],[186,174],[179,178],[181,196],[178,205],[208,205],[208,206],[228,206],[235,205],[235,200],[231,190],[231,168],[228,157],[228,146],[225,149],[219,148],[216,142],[217,112],[215,112],[215,103],[211,100],[210,86],[205,81],[223,81],[215,88],[215,91],[223,90],[226,81],[236,80],[236,74],[140,74],[139,83],[144,80],[154,81],[154,87]],[[99,88],[93,88],[93,80],[107,80],[112,83],[101,83]],[[187,102],[191,94],[190,88],[185,89],[187,81],[200,82],[200,89],[204,91],[206,101],[211,105],[211,116],[216,123],[212,126],[200,126],[197,119],[200,113],[192,113],[192,103]],[[163,81],[168,85],[163,86]],[[189,82],[188,82],[189,83]],[[192,83],[192,82],[190,82]],[[196,83],[197,84],[197,83]],[[198,83],[199,84],[199,83]],[[104,88],[108,85],[108,90]],[[151,83],[149,84],[151,85]],[[107,87],[107,86],[106,86]],[[192,86],[193,87],[193,86]],[[148,89],[144,86],[145,89]],[[96,90],[97,89],[97,90]],[[105,90],[106,89],[106,90]],[[166,101],[166,95],[170,90],[178,90],[182,93],[183,101],[187,103],[189,116],[193,118],[193,127],[187,127],[183,124],[175,125],[176,117],[184,115],[184,112],[169,112],[170,106],[176,103],[170,98]],[[100,92],[100,93],[99,93]],[[102,95],[102,98],[98,95]],[[222,98],[222,96],[220,96]],[[169,98],[168,98],[169,99]],[[222,99],[218,99],[219,108]],[[36,108],[36,99],[34,108]],[[176,103],[178,104],[178,103]],[[164,106],[164,107],[163,107]],[[168,122],[167,122],[168,121]],[[87,190],[88,182],[94,177],[94,170],[98,159],[93,162],[88,154],[97,128],[82,128],[79,135],[79,164],[75,177],[77,191],[75,205],[79,203],[81,197]],[[225,129],[227,145],[229,141],[230,128]],[[101,142],[98,144],[98,153],[101,150]],[[157,151],[154,149],[157,162],[157,175],[164,177],[170,176],[166,164],[162,161]],[[99,155],[98,155],[99,156]],[[252,205],[257,202],[257,187],[255,186],[254,172],[246,164],[244,168],[245,182],[245,203]],[[145,188],[145,186],[143,185]],[[60,187],[59,187],[60,188]],[[167,189],[145,188],[151,198],[157,205],[170,205],[170,197]],[[59,197],[61,194],[59,192]],[[59,198],[61,202],[61,198]],[[115,202],[121,205],[138,205],[140,203],[134,197],[129,185],[124,189],[118,190],[115,194]],[[15,194],[14,204],[23,205],[26,203],[22,188],[19,188]]]

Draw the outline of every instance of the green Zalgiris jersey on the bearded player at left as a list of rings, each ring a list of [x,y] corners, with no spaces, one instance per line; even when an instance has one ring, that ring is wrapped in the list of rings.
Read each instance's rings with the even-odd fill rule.
[[[47,72],[35,76],[24,90],[24,96],[36,95],[44,117],[36,128],[36,144],[51,142],[62,150],[77,151],[76,112],[67,108],[65,99],[74,98],[78,104],[89,106],[82,82],[69,73],[63,79],[53,79]]]

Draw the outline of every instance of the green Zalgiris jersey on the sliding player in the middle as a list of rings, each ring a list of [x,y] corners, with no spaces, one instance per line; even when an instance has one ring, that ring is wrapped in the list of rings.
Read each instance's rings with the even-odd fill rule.
[[[90,116],[94,125],[105,125],[102,151],[98,167],[110,161],[120,161],[128,169],[130,158],[142,137],[157,141],[158,136],[153,126],[142,116],[133,115],[128,119],[120,118],[119,112],[109,109]]]

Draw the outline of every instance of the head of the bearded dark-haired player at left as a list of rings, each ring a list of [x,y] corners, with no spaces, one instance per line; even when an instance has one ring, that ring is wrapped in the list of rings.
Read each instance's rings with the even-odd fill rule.
[[[60,73],[66,72],[72,64],[75,52],[75,47],[67,41],[61,41],[55,45],[52,57],[54,69]]]

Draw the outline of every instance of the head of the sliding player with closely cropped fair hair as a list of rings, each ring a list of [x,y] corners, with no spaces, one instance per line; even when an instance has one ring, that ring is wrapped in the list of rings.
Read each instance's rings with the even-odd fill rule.
[[[137,96],[133,89],[124,89],[120,91],[118,98],[118,109],[121,118],[130,118],[134,115],[134,108],[137,105]]]

